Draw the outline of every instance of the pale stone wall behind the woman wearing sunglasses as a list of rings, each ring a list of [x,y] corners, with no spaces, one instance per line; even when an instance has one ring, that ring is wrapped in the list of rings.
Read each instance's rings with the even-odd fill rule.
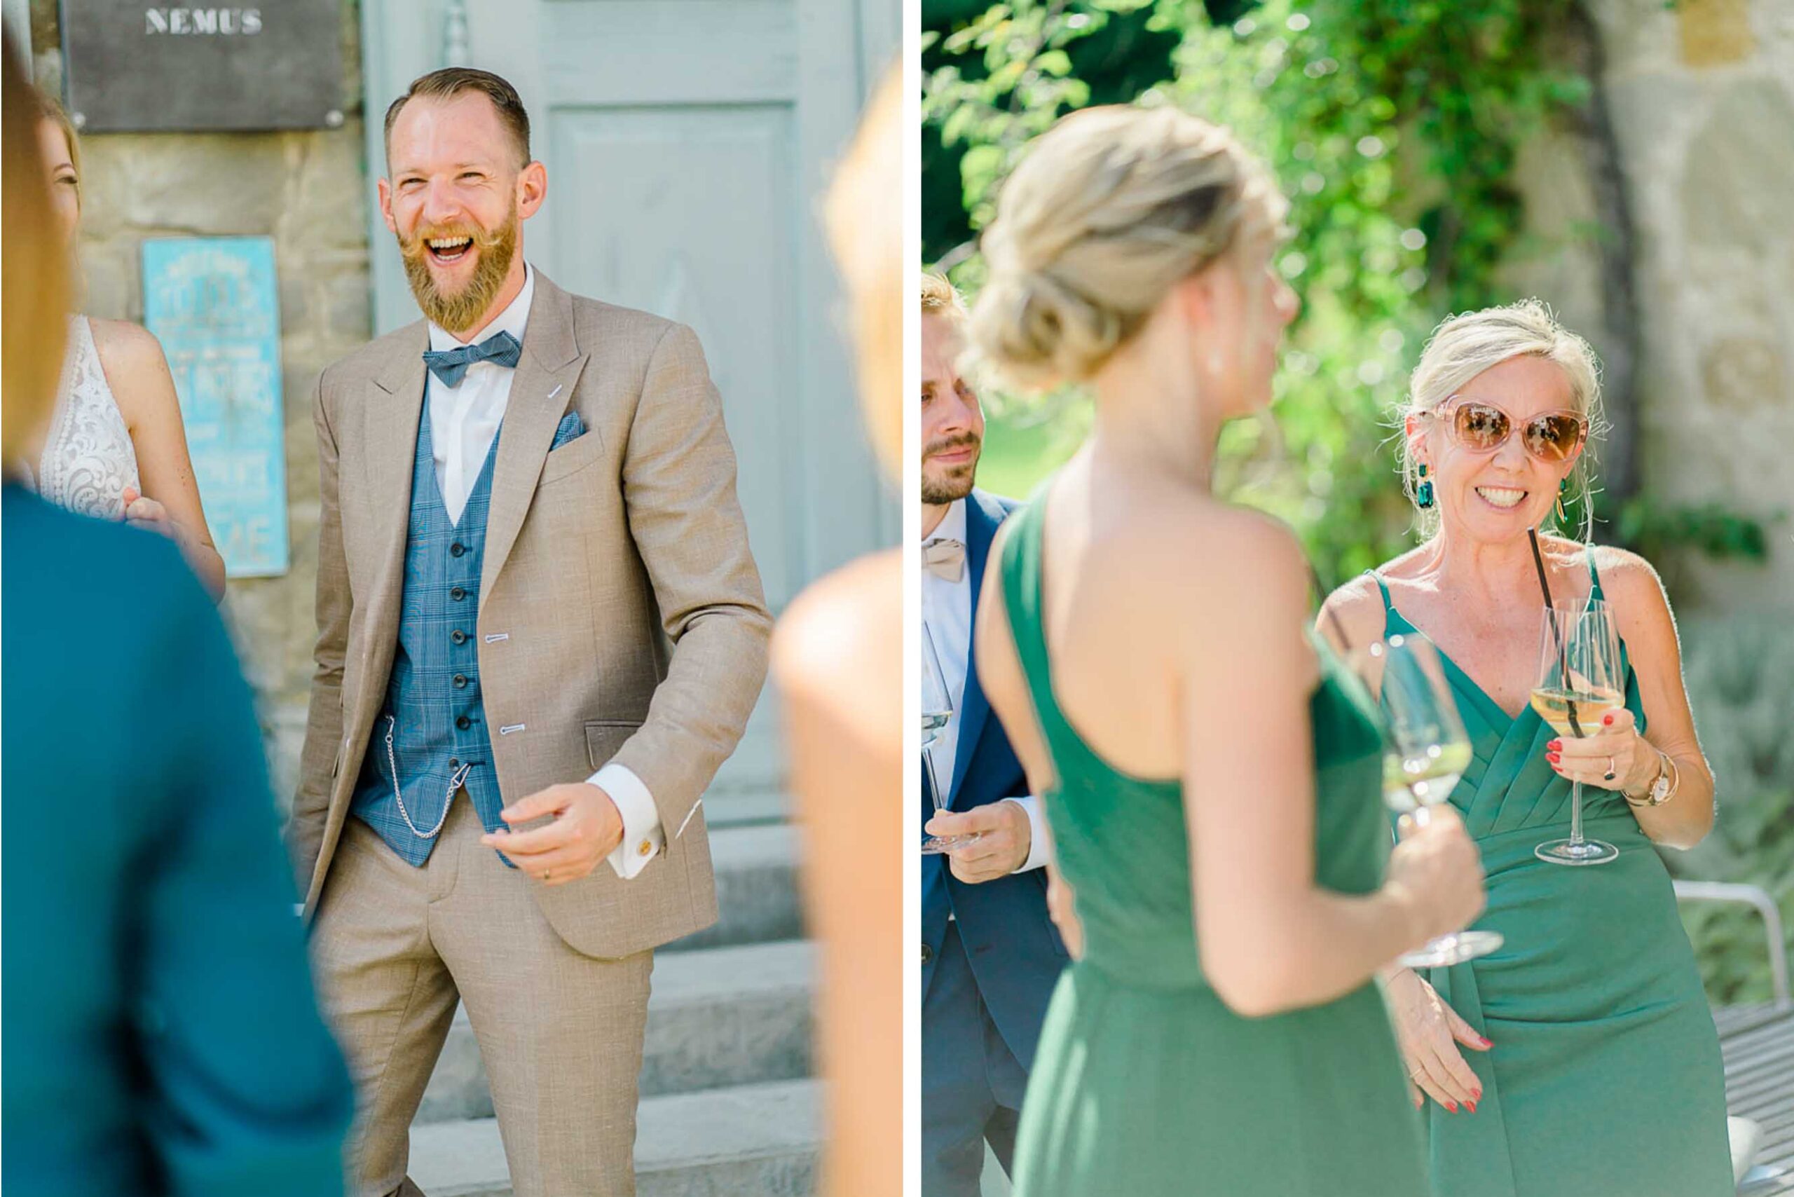
[[[1692,560],[1711,612],[1794,610],[1794,0],[1589,0],[1631,208],[1640,488],[1764,520],[1769,564]],[[1521,154],[1514,264],[1602,346],[1588,156],[1561,133]]]

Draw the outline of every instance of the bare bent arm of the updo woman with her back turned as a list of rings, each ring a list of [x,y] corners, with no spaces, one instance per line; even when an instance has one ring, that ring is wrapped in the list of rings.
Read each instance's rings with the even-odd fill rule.
[[[1308,703],[1317,662],[1301,628],[1308,574],[1290,533],[1238,513],[1186,555],[1186,619],[1168,625],[1184,727],[1184,804],[1204,971],[1247,1016],[1319,1005],[1482,910],[1482,867],[1448,809],[1390,858],[1367,896],[1315,881]],[[1227,562],[1227,578],[1213,565]]]

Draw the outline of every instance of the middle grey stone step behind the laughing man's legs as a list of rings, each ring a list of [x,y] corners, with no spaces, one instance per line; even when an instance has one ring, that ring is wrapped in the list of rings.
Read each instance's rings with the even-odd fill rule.
[[[804,940],[658,955],[642,1097],[807,1075],[814,973],[816,949]],[[486,1068],[459,1009],[416,1120],[490,1116]]]

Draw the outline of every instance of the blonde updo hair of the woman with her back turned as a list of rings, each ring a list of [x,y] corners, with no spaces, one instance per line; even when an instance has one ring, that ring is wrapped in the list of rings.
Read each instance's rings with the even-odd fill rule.
[[[971,341],[1012,384],[1089,379],[1175,284],[1277,232],[1234,136],[1175,108],[1087,108],[1035,138],[983,235]]]

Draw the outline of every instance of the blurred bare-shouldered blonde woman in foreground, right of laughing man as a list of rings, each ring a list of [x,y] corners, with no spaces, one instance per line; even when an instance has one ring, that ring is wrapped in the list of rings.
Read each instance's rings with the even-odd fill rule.
[[[902,102],[892,68],[829,188],[867,427],[895,474],[902,445]],[[816,1035],[829,1084],[827,1197],[902,1193],[902,553],[804,590],[773,635],[804,906],[822,942]]]

